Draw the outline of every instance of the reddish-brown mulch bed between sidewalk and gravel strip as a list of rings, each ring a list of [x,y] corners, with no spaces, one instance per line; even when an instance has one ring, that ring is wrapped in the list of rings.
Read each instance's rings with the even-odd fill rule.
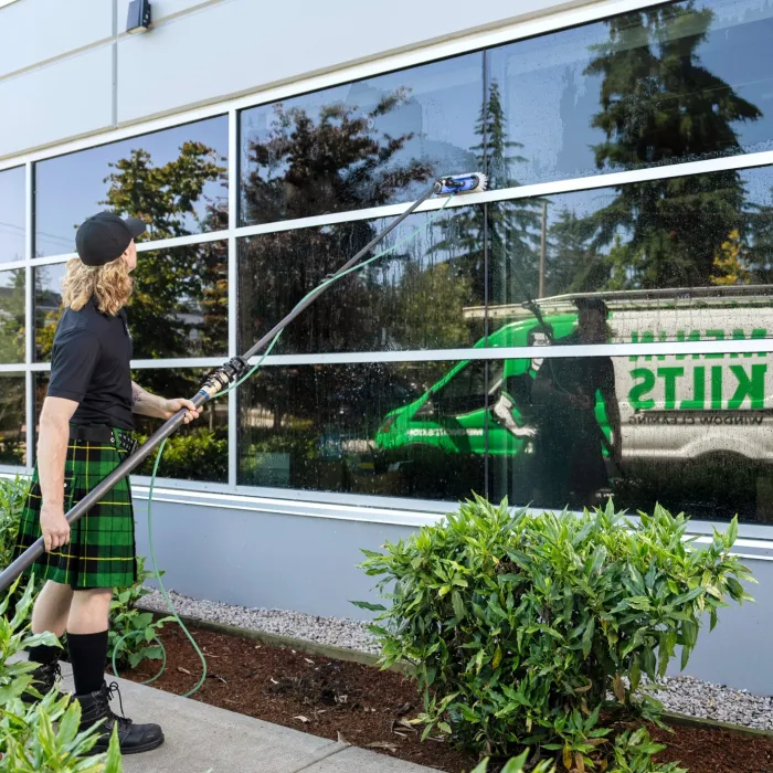
[[[447,743],[420,741],[406,720],[421,709],[421,697],[413,681],[400,674],[211,631],[192,628],[192,633],[210,671],[192,700],[331,740],[340,734],[357,746],[447,773],[470,771],[476,764]],[[153,687],[182,695],[199,680],[201,664],[178,626],[168,625],[161,640],[167,669]],[[145,661],[121,676],[142,681],[159,666],[159,661]],[[659,756],[664,762],[680,761],[690,773],[773,773],[773,739],[722,730],[674,730],[674,734],[652,731],[668,744]]]

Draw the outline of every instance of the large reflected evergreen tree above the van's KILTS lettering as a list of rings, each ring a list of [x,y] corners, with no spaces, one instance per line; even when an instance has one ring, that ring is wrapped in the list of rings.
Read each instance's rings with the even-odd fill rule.
[[[733,124],[756,120],[758,107],[709,72],[699,49],[710,9],[673,3],[611,19],[608,42],[594,46],[587,74],[600,75],[593,126],[600,169],[657,166],[740,152]],[[610,282],[623,288],[712,284],[716,256],[742,226],[743,184],[735,171],[638,182],[617,188],[595,213],[595,245],[610,253]]]

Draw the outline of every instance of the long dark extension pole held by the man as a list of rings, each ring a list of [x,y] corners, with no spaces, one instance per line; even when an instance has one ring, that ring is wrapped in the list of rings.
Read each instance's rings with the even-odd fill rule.
[[[330,277],[335,279],[341,274],[343,274],[349,268],[356,266],[364,255],[367,255],[379,242],[381,242],[389,233],[391,233],[400,223],[405,220],[411,213],[413,213],[419,207],[421,207],[431,195],[434,193],[440,193],[442,190],[441,182],[434,182],[432,188],[430,188],[425,193],[421,195],[416,201],[411,204],[401,215],[395,218],[381,233],[377,234],[368,244],[366,244],[360,252],[351,257],[345,265],[342,265],[336,274]],[[326,282],[313,293],[300,301],[280,322],[275,325],[263,338],[261,338],[255,346],[253,346],[242,358],[237,358],[244,364],[254,357],[262,349],[265,349],[268,343],[282,332],[284,328],[287,327],[305,308],[307,308],[314,300],[316,300],[329,286],[331,282]],[[230,361],[232,363],[233,360]],[[230,364],[227,363],[227,364]],[[221,368],[224,371],[226,366]],[[233,372],[233,366],[231,372],[229,372],[227,380],[236,380],[240,372]],[[227,383],[227,381],[226,381]],[[222,389],[222,386],[220,388]],[[204,391],[204,389],[199,390],[191,402],[199,407],[203,405],[211,396],[216,394],[219,389],[212,390],[210,392]],[[139,467],[145,459],[150,456],[150,454],[156,451],[159,444],[169,437],[173,432],[176,432],[183,423],[186,417],[187,409],[182,409],[176,413],[171,419],[169,419],[161,427],[159,427],[148,440],[131,454],[127,459],[124,459],[112,473],[109,473],[97,486],[95,486],[75,507],[73,507],[70,512],[65,515],[65,518],[72,526],[82,516],[84,516],[94,505],[96,505],[104,496],[107,494],[119,480],[123,480],[129,473]],[[45,544],[43,538],[41,537],[34,544],[28,548],[13,563],[11,563],[3,572],[0,574],[0,593],[7,591],[15,581],[15,579],[25,570],[28,570],[45,551]]]

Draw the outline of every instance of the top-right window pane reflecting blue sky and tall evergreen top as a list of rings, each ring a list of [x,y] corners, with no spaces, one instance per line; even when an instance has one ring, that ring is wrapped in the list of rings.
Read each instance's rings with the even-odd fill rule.
[[[770,3],[690,0],[493,50],[494,187],[770,150],[772,39]]]

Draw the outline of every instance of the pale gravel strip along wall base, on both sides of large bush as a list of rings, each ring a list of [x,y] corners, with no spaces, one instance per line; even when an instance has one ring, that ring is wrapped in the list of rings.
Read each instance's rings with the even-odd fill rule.
[[[215,601],[199,601],[179,593],[170,596],[179,614],[211,623],[317,642],[378,655],[379,646],[366,623],[337,617],[317,617],[286,610],[250,610]],[[159,591],[151,591],[140,606],[167,612]],[[773,697],[755,696],[688,676],[666,678],[654,692],[667,710],[689,717],[773,731]]]

